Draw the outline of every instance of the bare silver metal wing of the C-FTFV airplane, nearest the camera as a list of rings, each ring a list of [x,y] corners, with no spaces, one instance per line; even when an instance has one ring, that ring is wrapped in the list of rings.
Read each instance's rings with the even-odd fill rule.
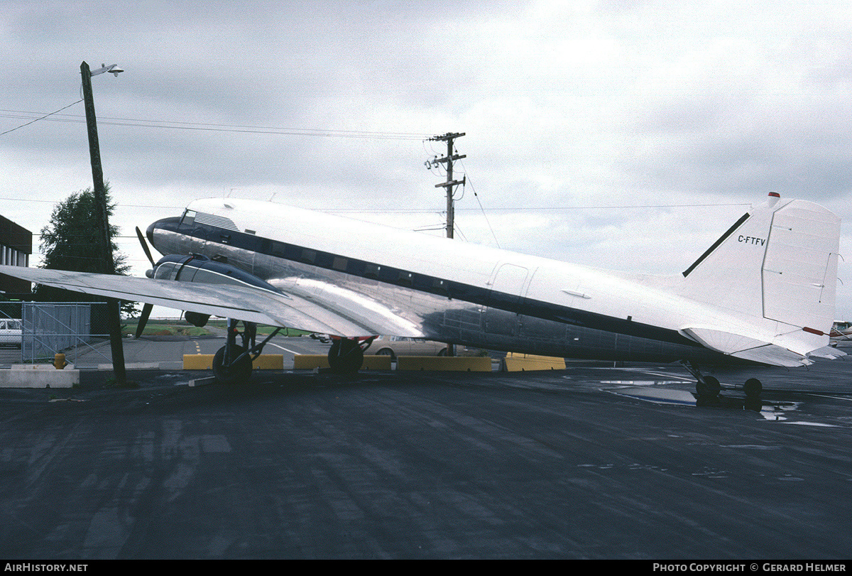
[[[401,332],[403,336],[423,337],[416,325],[388,308],[331,285],[297,285],[291,293],[284,293],[249,285],[214,285],[18,266],[0,266],[0,274],[83,294],[335,336]]]

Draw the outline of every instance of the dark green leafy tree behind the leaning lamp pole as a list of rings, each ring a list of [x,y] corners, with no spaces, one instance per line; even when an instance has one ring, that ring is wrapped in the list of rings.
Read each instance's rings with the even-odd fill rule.
[[[109,183],[105,184],[107,216],[112,216],[115,204],[110,197]],[[95,219],[95,193],[86,188],[73,193],[64,202],[58,204],[50,215],[50,223],[42,228],[41,268],[52,270],[70,270],[72,272],[101,272],[100,234],[93,224]],[[109,274],[126,275],[130,271],[127,256],[118,252],[114,239],[118,236],[118,227],[109,227],[112,245],[112,269]],[[72,292],[47,285],[36,285],[33,291],[41,302],[106,302],[106,298],[80,292]],[[122,302],[125,314],[135,313],[134,302]]]

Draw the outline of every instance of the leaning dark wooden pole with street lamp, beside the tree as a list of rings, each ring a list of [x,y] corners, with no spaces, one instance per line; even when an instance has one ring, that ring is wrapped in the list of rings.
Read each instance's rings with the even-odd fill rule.
[[[107,192],[104,188],[104,174],[101,169],[101,147],[98,145],[98,127],[95,119],[95,101],[92,98],[92,77],[110,72],[118,78],[119,72],[124,72],[117,64],[101,67],[92,72],[89,65],[83,62],[80,65],[80,75],[83,77],[83,101],[86,107],[86,126],[89,129],[89,156],[92,159],[92,181],[95,193],[95,226],[101,230],[99,234],[101,244],[101,273],[110,274],[115,270],[115,261],[112,259],[112,242],[109,238],[109,221],[107,218]],[[107,324],[109,325],[110,347],[112,349],[112,372],[115,374],[116,384],[123,386],[127,383],[124,371],[124,346],[121,340],[121,319],[118,312],[118,300],[107,298]]]

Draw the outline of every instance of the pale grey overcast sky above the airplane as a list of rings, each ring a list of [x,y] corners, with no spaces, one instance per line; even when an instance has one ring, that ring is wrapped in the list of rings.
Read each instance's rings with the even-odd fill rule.
[[[92,185],[80,63],[118,63],[92,84],[137,275],[134,227],[210,196],[439,227],[425,139],[465,132],[457,238],[678,274],[776,191],[843,218],[852,319],[850,37],[848,0],[0,0],[0,132],[72,105],[0,135],[0,214],[38,233]]]

